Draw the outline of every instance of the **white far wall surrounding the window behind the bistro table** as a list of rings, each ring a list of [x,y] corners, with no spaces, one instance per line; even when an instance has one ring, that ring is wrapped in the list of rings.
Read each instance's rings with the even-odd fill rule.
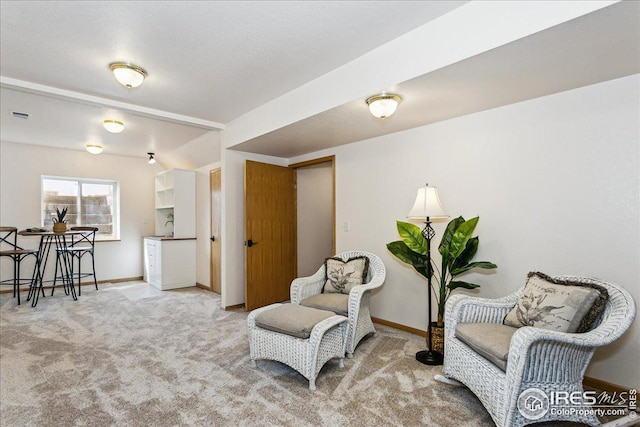
[[[142,237],[154,233],[154,176],[146,159],[0,142],[0,223],[40,225],[40,176],[98,178],[120,183],[120,241],[96,243],[98,280],[142,276]],[[144,222],[147,222],[144,224]],[[20,240],[37,247],[36,238]],[[53,263],[50,263],[53,267]],[[11,274],[2,264],[2,277]],[[48,266],[49,267],[49,266]],[[52,277],[49,271],[46,277]]]

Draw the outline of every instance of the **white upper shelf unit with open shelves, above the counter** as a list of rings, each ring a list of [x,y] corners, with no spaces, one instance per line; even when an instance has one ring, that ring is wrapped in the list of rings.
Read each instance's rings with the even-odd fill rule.
[[[156,235],[196,237],[196,172],[169,169],[155,178]],[[173,224],[169,221],[173,214]]]

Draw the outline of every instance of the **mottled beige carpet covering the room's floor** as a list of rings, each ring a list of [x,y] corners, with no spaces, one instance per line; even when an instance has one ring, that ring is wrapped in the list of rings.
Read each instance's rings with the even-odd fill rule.
[[[246,313],[216,294],[146,284],[61,290],[34,309],[0,296],[2,426],[492,426],[464,388],[414,359],[423,339],[385,326],[309,392],[289,367],[252,368]]]

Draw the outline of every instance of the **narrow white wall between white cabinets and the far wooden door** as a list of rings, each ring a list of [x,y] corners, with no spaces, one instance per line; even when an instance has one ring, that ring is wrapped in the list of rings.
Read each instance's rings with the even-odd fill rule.
[[[196,282],[211,286],[211,192],[209,172],[220,167],[212,163],[196,169]]]

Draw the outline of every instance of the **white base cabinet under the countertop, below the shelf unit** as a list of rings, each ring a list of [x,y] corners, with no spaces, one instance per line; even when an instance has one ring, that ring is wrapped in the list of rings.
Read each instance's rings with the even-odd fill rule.
[[[144,280],[160,290],[196,285],[196,239],[144,238]]]

